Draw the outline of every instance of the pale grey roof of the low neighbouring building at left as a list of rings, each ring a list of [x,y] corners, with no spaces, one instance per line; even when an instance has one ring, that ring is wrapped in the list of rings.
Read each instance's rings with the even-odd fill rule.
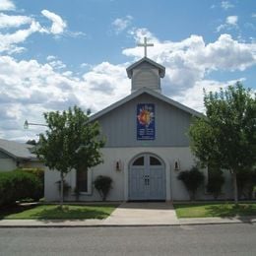
[[[36,156],[31,153],[34,146],[0,139],[0,151],[13,159],[34,160]]]

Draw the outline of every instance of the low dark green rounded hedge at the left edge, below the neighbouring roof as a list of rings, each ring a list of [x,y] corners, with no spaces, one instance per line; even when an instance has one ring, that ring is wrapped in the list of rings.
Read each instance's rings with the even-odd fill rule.
[[[0,206],[32,198],[39,200],[43,191],[40,179],[22,170],[0,172]]]

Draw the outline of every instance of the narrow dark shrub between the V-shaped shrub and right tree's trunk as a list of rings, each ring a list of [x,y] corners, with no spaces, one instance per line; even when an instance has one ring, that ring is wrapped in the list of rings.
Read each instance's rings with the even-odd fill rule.
[[[222,188],[224,185],[224,173],[222,170],[211,172],[209,176],[207,191],[212,193],[215,199],[218,199],[222,193]]]

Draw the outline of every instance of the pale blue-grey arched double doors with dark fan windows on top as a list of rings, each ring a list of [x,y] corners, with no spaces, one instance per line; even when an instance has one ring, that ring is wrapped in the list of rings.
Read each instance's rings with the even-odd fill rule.
[[[165,167],[153,154],[142,154],[129,165],[129,200],[165,200]]]

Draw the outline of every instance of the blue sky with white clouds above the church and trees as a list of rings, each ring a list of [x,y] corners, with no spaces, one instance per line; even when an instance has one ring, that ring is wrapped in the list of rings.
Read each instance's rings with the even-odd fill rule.
[[[0,0],[0,138],[36,140],[45,127],[25,120],[128,96],[145,36],[165,96],[204,111],[203,89],[256,91],[255,0]]]

